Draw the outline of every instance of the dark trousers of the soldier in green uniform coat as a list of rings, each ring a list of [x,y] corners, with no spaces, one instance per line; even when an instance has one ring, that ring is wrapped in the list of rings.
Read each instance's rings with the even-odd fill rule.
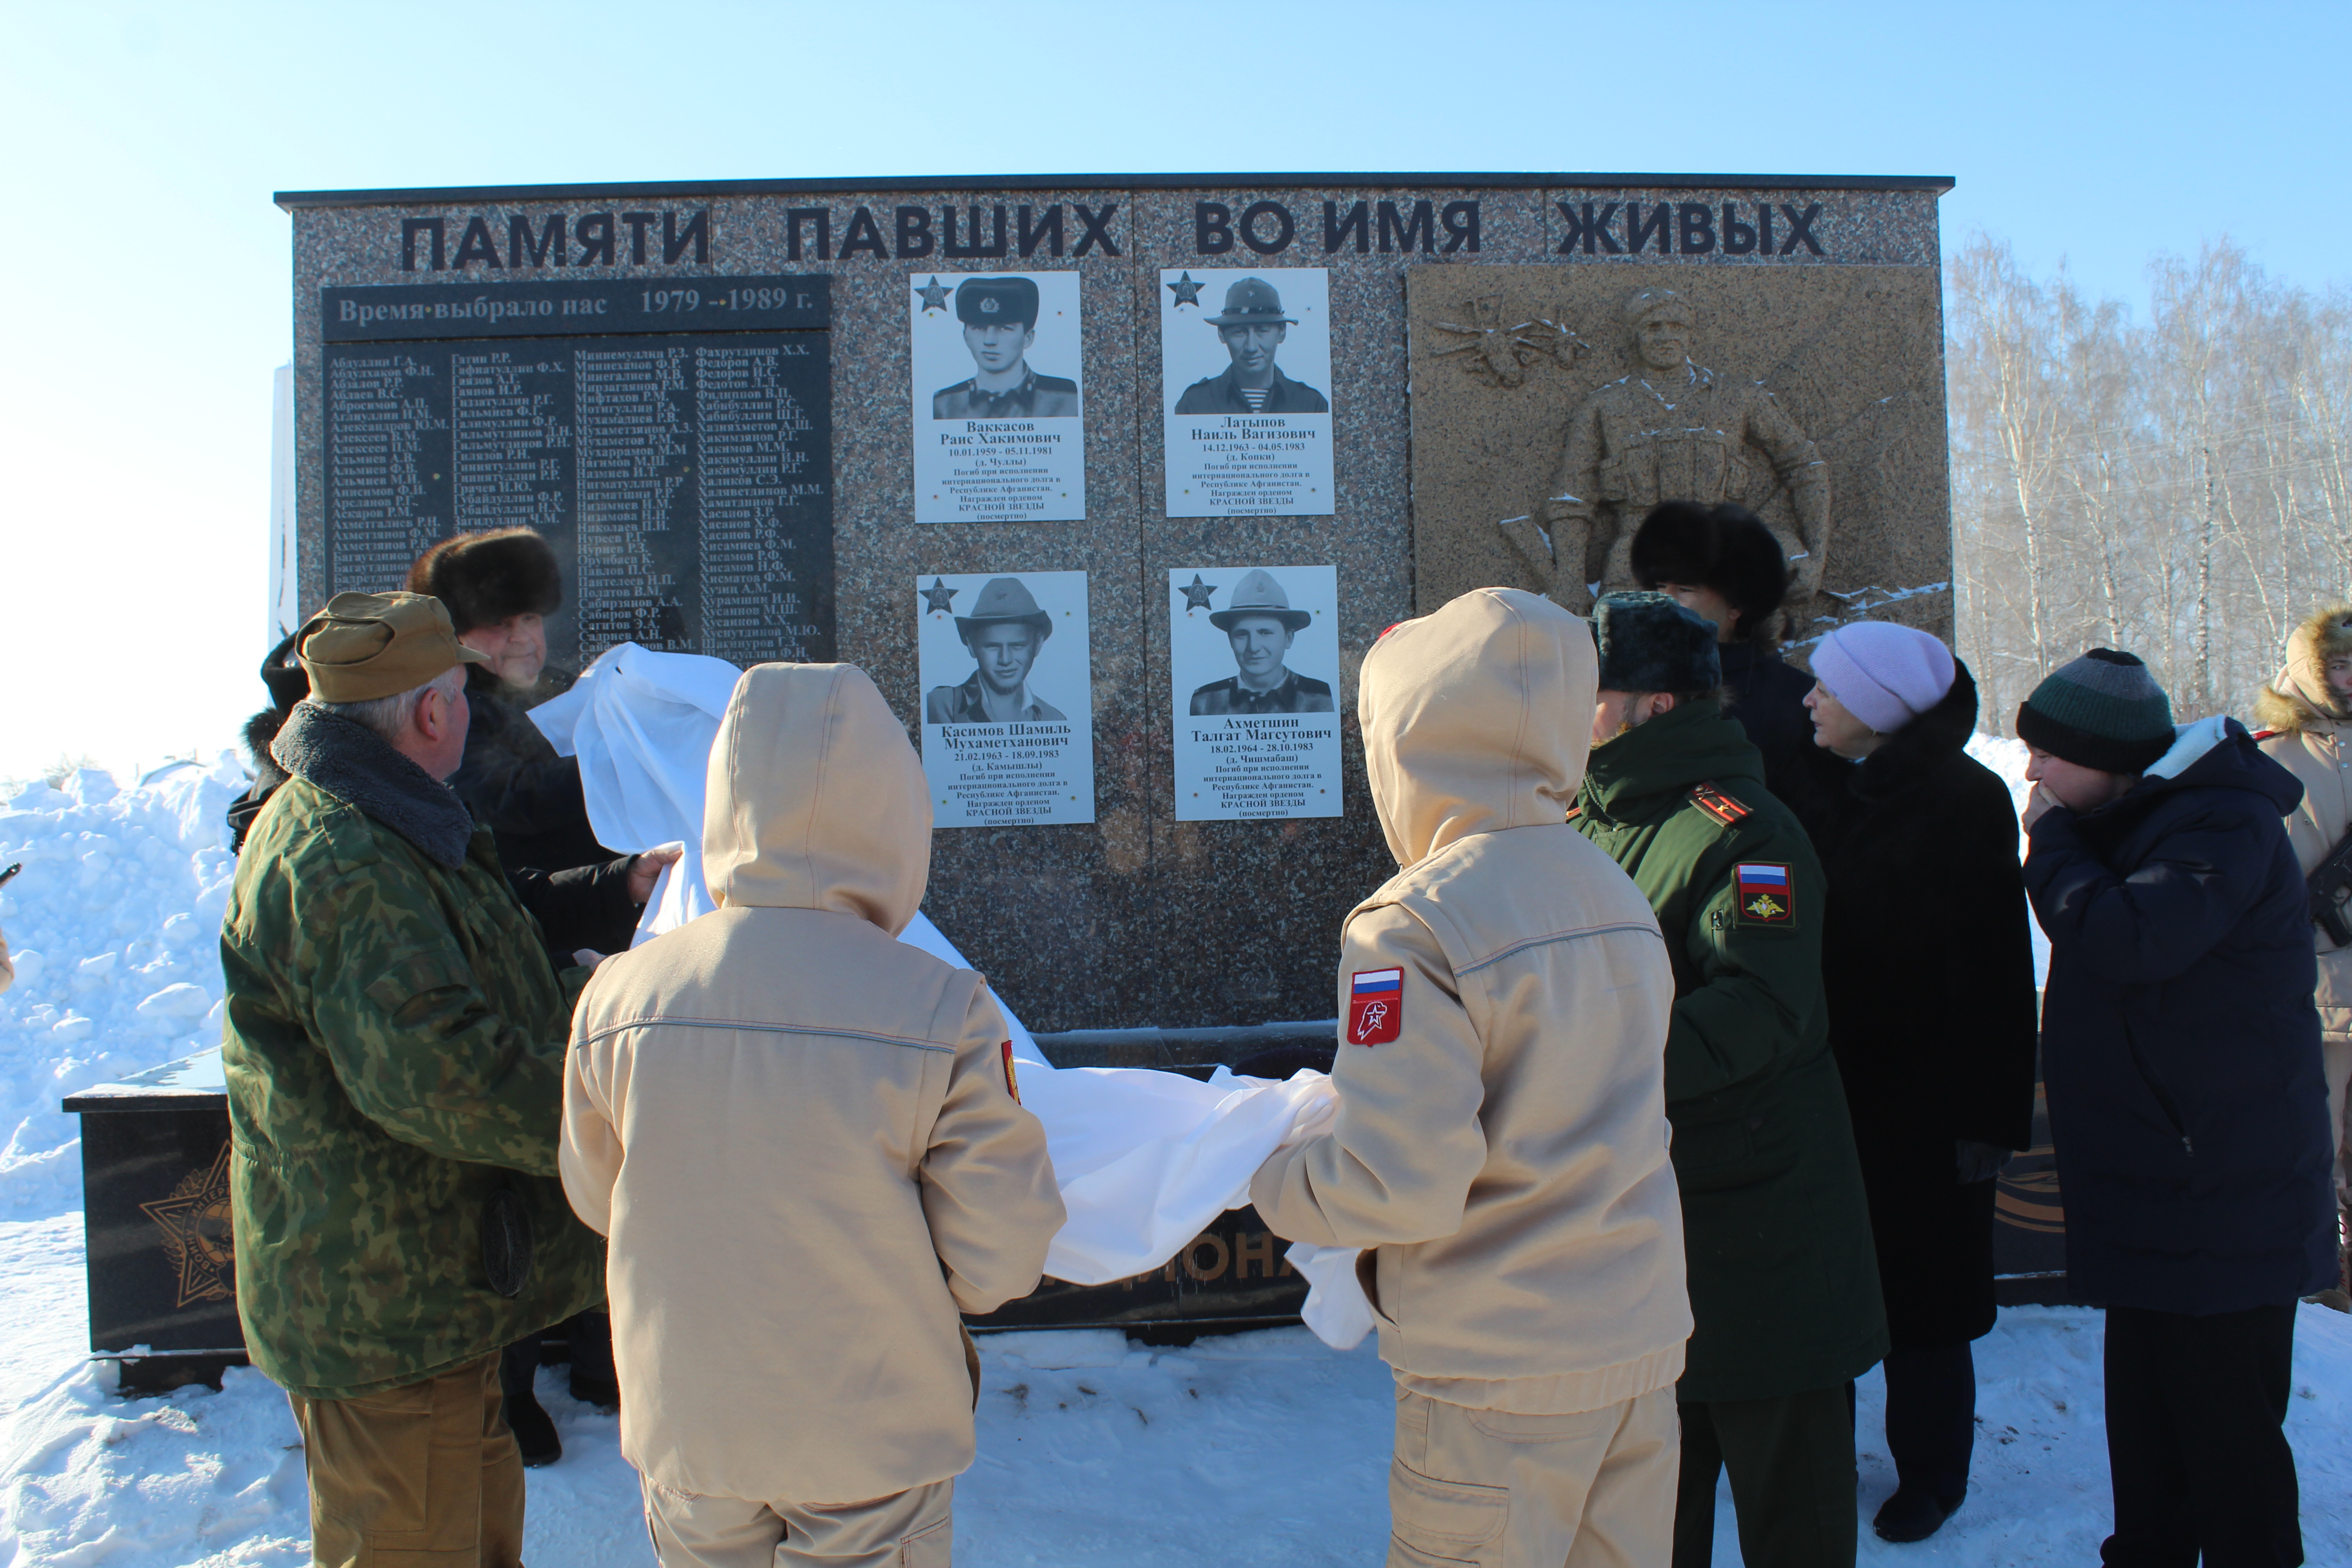
[[[1853,1385],[1682,1403],[1675,1568],[1715,1559],[1715,1479],[1731,1469],[1748,1568],[1853,1568]]]

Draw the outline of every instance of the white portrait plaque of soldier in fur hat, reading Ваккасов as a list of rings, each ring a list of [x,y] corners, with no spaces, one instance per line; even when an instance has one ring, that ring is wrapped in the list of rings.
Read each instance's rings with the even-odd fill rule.
[[[1077,273],[908,280],[915,522],[1087,515]]]

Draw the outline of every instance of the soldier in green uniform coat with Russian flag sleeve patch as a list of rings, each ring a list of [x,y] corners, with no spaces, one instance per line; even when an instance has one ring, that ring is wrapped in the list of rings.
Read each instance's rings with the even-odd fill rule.
[[[1731,1472],[1750,1568],[1853,1563],[1846,1385],[1886,1354],[1877,1255],[1820,990],[1820,863],[1715,691],[1715,628],[1658,592],[1595,616],[1573,825],[1665,931],[1665,1114],[1691,1281],[1675,1568],[1705,1568]]]

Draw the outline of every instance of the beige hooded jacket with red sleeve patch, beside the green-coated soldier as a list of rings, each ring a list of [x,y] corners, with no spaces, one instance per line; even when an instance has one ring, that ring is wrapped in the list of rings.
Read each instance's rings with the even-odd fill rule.
[[[1249,1190],[1282,1237],[1376,1248],[1359,1274],[1406,1387],[1524,1415],[1668,1387],[1691,1335],[1675,976],[1649,900],[1566,825],[1595,677],[1585,623],[1512,588],[1364,656],[1364,764],[1404,870],[1341,931],[1338,1117]],[[1383,971],[1392,1018],[1371,1013]]]

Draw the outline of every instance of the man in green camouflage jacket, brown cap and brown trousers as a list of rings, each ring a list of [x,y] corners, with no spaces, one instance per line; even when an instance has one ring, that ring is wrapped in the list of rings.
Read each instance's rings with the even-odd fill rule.
[[[440,599],[336,595],[221,926],[238,1314],[303,1432],[318,1563],[508,1568],[499,1347],[602,1298],[555,1173],[586,969],[550,966],[442,783],[463,665]]]

